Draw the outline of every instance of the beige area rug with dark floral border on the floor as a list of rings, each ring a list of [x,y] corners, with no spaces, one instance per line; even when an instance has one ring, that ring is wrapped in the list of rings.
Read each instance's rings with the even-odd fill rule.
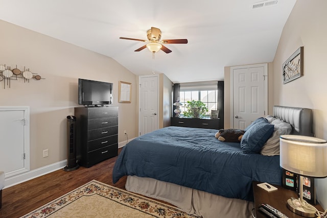
[[[198,217],[96,180],[21,217]]]

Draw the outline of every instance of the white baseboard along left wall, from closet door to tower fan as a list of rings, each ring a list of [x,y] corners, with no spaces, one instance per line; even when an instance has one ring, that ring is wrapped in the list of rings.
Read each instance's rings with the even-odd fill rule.
[[[26,182],[31,179],[43,176],[45,174],[49,174],[51,172],[57,171],[58,169],[65,167],[66,164],[67,164],[67,160],[62,160],[57,163],[50,164],[48,166],[43,166],[37,169],[33,169],[32,171],[26,173],[22,173],[16,176],[6,178],[4,188],[9,188],[19,183]]]

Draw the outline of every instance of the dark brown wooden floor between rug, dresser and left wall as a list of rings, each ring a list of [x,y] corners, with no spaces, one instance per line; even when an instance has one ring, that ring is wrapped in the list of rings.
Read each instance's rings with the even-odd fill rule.
[[[119,149],[119,152],[121,149]],[[3,189],[0,217],[19,217],[56,199],[81,185],[97,180],[125,189],[126,177],[112,183],[112,169],[117,157],[90,168],[80,167],[72,172],[62,169],[36,179]]]

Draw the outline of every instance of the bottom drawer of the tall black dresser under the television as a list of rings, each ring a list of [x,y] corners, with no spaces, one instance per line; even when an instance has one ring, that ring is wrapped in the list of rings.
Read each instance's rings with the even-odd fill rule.
[[[104,147],[95,151],[88,152],[88,160],[86,167],[90,167],[96,163],[99,163],[110,157],[118,155],[118,144],[112,144],[111,146]]]

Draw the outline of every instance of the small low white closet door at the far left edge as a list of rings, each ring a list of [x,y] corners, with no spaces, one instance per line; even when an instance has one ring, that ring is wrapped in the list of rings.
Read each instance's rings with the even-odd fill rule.
[[[29,107],[0,107],[0,170],[5,177],[29,171]]]

